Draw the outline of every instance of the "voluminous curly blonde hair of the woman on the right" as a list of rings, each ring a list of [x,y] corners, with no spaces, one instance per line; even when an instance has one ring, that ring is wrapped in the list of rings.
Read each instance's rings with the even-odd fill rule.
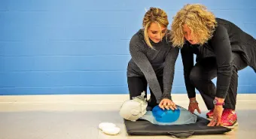
[[[183,25],[191,30],[191,35],[197,39],[197,44],[205,44],[217,26],[215,15],[207,11],[206,6],[200,4],[187,4],[173,17],[171,26],[171,41],[174,47],[184,45]]]

